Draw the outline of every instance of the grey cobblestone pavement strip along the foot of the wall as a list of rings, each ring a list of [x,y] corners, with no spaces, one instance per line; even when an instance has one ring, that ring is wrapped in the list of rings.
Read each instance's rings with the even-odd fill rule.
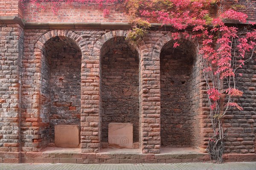
[[[0,164],[0,170],[256,170],[256,162],[224,164]]]

